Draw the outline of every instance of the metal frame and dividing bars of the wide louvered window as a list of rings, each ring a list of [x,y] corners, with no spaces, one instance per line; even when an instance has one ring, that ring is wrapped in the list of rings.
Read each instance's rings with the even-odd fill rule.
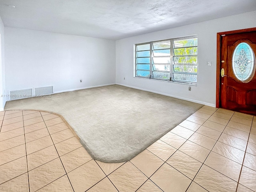
[[[168,39],[164,39],[164,40],[156,40],[156,41],[150,41],[150,42],[144,42],[144,43],[138,43],[138,44],[134,44],[134,51],[135,51],[135,54],[134,54],[134,77],[135,78],[144,78],[144,79],[150,79],[150,80],[160,80],[160,81],[164,81],[164,82],[175,82],[175,83],[182,83],[182,84],[191,84],[191,85],[197,85],[197,75],[198,75],[198,71],[196,73],[182,73],[182,74],[193,74],[193,75],[196,75],[196,82],[192,82],[192,81],[181,81],[181,80],[174,80],[173,78],[173,74],[174,73],[177,73],[177,72],[174,72],[174,45],[173,45],[173,42],[175,40],[185,40],[185,39],[191,39],[191,38],[197,38],[198,39],[198,35],[190,35],[190,36],[183,36],[183,37],[177,37],[177,38],[168,38]],[[152,77],[152,74],[153,74],[153,43],[156,43],[156,42],[164,42],[164,41],[170,41],[170,78],[169,79],[164,79],[164,78],[153,78]],[[145,70],[145,71],[149,71],[150,72],[150,75],[149,76],[137,76],[137,46],[138,45],[144,45],[144,44],[150,44],[150,70]],[[184,48],[190,48],[190,47],[196,47],[197,48],[197,54],[196,54],[196,57],[197,57],[197,64],[194,65],[194,66],[197,66],[198,68],[198,44],[197,46],[188,46],[188,47],[184,47]],[[195,56],[195,55],[193,55]],[[142,58],[142,57],[141,57]]]

